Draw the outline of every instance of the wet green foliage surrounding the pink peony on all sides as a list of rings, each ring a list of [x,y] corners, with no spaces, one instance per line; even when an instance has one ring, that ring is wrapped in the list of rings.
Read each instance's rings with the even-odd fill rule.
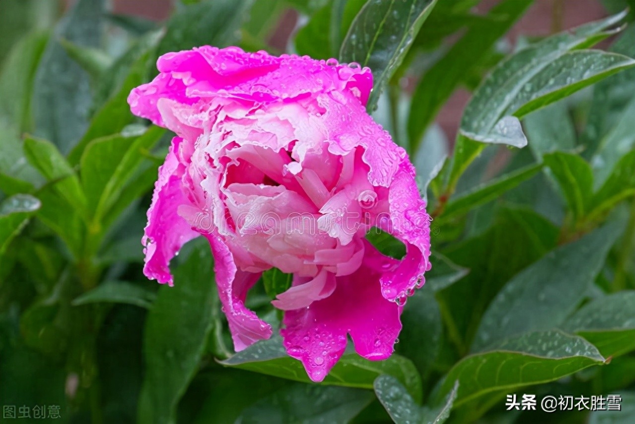
[[[156,24],[105,0],[63,17],[1,1],[0,403],[97,424],[633,422],[635,4],[606,0],[614,15],[504,51],[532,1],[478,3],[190,0]],[[174,287],[145,279],[171,135],[126,103],[166,51],[280,53],[267,39],[290,9],[305,17],[291,51],[371,67],[368,110],[408,149],[434,217],[396,354],[349,350],[319,385],[278,336],[232,351],[204,241],[173,261]],[[450,144],[434,120],[460,87]],[[248,306],[279,327],[269,301],[288,284],[267,272]],[[619,394],[622,411],[505,411],[511,393]]]

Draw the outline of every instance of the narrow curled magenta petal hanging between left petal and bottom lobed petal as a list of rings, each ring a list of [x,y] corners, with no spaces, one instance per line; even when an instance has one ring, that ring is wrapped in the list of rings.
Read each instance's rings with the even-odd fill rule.
[[[229,248],[220,237],[213,234],[204,236],[209,240],[214,255],[218,297],[227,316],[234,350],[239,352],[259,340],[270,338],[271,325],[244,306],[247,292],[258,281],[260,274],[237,270]]]

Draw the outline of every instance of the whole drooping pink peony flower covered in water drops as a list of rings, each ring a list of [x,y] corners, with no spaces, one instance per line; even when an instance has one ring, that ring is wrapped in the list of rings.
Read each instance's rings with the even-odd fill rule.
[[[337,60],[210,46],[159,58],[154,81],[128,97],[133,113],[177,133],[159,168],[145,228],[149,278],[208,238],[236,351],[271,336],[246,308],[272,267],[293,273],[272,303],[281,334],[314,381],[344,353],[386,359],[404,299],[429,270],[429,216],[406,152],[366,113],[370,69]],[[364,235],[406,245],[401,261]]]

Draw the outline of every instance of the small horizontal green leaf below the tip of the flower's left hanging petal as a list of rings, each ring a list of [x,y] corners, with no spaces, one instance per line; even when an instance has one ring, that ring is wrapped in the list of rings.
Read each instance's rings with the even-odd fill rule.
[[[125,281],[106,281],[76,297],[73,306],[88,303],[128,303],[141,308],[150,308],[156,294],[142,285]]]

